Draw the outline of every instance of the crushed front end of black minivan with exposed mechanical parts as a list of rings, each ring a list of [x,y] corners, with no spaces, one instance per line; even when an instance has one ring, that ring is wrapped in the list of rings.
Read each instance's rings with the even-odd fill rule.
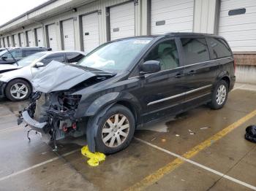
[[[36,92],[28,107],[20,112],[18,125],[26,122],[33,130],[42,133],[45,141],[64,139],[66,136],[82,136],[85,128],[78,128],[81,119],[75,118],[81,95],[69,91],[53,93]]]

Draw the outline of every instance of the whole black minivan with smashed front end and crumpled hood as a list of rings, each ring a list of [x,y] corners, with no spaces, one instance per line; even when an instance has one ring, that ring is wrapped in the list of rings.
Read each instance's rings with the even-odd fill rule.
[[[222,108],[235,80],[233,53],[220,36],[118,39],[76,65],[49,64],[34,78],[36,92],[18,123],[55,145],[86,134],[91,152],[110,154],[127,147],[138,126],[202,104]]]

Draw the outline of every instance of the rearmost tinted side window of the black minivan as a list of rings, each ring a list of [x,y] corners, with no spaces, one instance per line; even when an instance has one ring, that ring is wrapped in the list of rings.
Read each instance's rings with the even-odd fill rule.
[[[228,47],[227,43],[223,39],[208,38],[208,41],[210,42],[214,59],[225,58],[232,55],[230,47]]]

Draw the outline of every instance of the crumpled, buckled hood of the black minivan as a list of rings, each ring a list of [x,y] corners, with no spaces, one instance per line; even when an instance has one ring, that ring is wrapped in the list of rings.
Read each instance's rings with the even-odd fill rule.
[[[65,63],[51,61],[45,69],[39,72],[31,81],[34,90],[50,93],[60,90],[69,90],[97,74],[91,73]]]

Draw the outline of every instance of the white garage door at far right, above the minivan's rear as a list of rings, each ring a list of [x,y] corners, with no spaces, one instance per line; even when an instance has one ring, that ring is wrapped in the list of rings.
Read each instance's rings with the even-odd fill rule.
[[[256,50],[256,1],[221,1],[219,35],[233,51]]]

